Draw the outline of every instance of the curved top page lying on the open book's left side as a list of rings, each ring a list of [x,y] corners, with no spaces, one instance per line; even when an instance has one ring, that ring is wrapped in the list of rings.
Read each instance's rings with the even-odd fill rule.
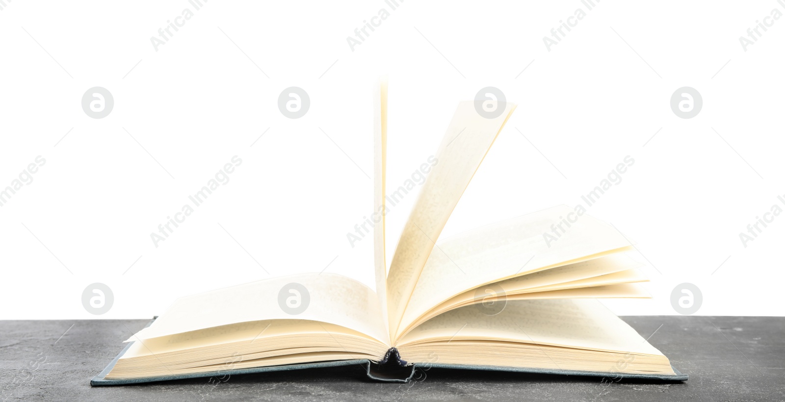
[[[178,298],[128,341],[261,320],[332,323],[389,345],[379,299],[371,288],[334,273],[306,273],[244,283]]]

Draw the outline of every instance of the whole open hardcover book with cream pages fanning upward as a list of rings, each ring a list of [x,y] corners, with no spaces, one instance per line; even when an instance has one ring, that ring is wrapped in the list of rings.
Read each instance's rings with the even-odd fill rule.
[[[386,84],[375,95],[374,211],[385,206]],[[515,109],[458,104],[385,265],[374,225],[377,291],[330,273],[301,274],[178,299],[128,339],[94,386],[360,364],[380,381],[416,367],[686,380],[596,298],[648,298],[630,242],[567,206],[439,239],[458,199]],[[562,225],[557,241],[543,232]],[[253,306],[253,307],[251,307]],[[397,367],[396,370],[390,367]]]

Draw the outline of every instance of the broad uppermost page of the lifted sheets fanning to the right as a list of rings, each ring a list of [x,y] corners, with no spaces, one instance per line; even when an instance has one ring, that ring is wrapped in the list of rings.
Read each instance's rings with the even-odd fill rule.
[[[564,232],[557,228],[560,237],[550,239],[556,225]],[[429,309],[486,283],[631,248],[611,225],[564,205],[452,236],[430,254],[396,335]]]

